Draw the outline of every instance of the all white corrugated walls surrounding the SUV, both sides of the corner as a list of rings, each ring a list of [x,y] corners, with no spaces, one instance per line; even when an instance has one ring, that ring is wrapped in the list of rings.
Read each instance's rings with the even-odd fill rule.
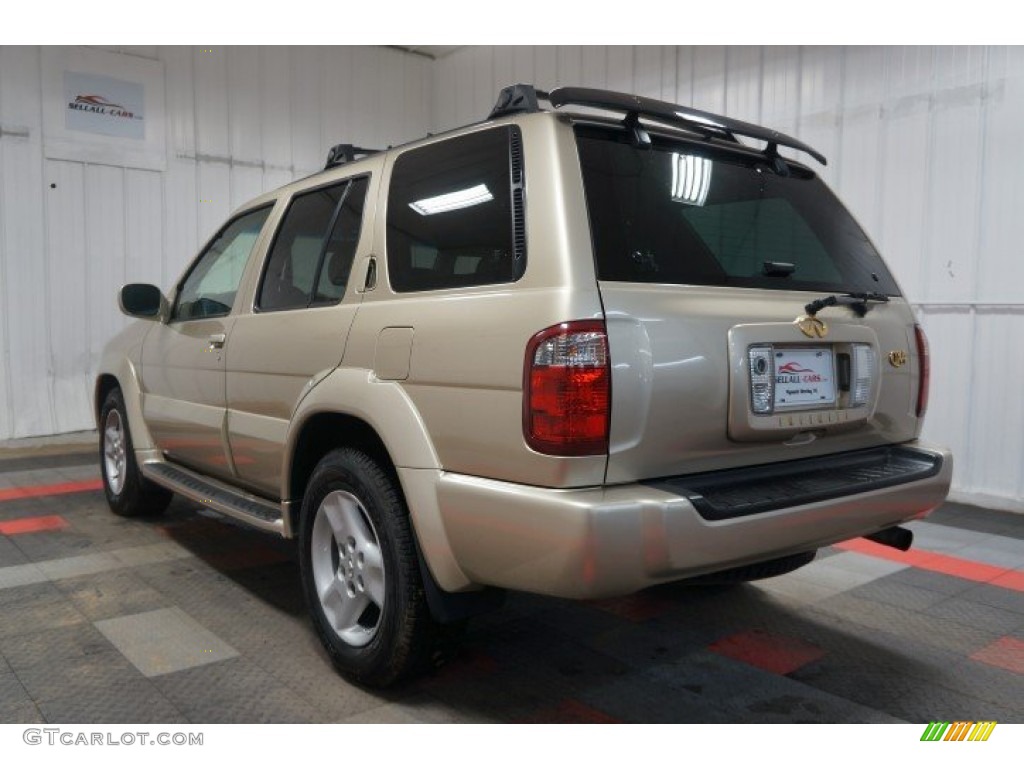
[[[724,111],[825,153],[933,343],[926,436],[957,498],[1024,511],[1024,48],[131,48],[165,67],[167,170],[46,160],[41,51],[0,47],[0,439],[92,426],[111,286],[168,287],[247,198],[479,120],[500,86],[579,84]]]

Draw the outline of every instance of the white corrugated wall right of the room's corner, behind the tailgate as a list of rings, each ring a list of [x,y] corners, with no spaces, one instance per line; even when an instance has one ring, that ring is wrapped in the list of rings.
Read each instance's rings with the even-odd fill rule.
[[[434,65],[433,124],[501,86],[625,90],[807,140],[932,340],[925,436],[954,498],[1024,511],[1024,48],[472,47]]]

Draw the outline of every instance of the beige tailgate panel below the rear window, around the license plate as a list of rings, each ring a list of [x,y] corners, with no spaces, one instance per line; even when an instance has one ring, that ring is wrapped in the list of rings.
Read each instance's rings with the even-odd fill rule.
[[[828,332],[810,339],[794,323],[807,295],[750,289],[601,283],[612,361],[607,480],[626,482],[801,459],[911,439],[916,366],[888,361],[909,353],[913,325],[902,301],[864,318],[848,309],[822,312]],[[872,350],[864,406],[837,368],[854,345]],[[776,402],[756,414],[751,348],[771,349],[776,400],[802,390],[827,403]],[[780,356],[779,356],[780,355]],[[806,362],[807,356],[821,359]],[[811,373],[782,373],[793,364]],[[831,381],[827,381],[827,379]],[[822,379],[824,381],[821,381]],[[812,381],[804,381],[812,380]],[[851,382],[852,384],[852,382]],[[830,386],[829,386],[830,385]]]

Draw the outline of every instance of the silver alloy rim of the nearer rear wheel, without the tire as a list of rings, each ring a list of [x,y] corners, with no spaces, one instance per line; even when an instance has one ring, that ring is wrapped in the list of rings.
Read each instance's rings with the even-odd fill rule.
[[[331,628],[348,645],[367,645],[384,614],[384,559],[358,499],[345,490],[324,497],[309,554],[313,585]]]

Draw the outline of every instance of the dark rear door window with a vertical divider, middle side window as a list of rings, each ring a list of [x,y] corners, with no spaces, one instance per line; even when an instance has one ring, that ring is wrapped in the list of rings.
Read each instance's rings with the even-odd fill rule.
[[[278,229],[256,306],[333,304],[345,295],[359,241],[367,177],[297,195]]]

